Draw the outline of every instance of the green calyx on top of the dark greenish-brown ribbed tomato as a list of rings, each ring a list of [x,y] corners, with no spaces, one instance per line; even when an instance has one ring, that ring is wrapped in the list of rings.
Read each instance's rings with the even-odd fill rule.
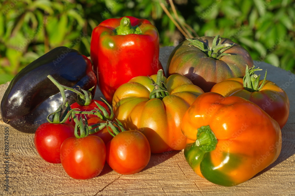
[[[217,60],[219,60],[222,56],[230,55],[228,53],[223,53],[223,52],[231,48],[232,46],[234,46],[234,44],[229,44],[229,43],[222,44],[221,38],[219,37],[219,35],[216,35],[214,37],[212,42],[212,48],[209,48],[209,46],[207,46],[204,42],[198,40],[198,38],[187,39],[187,40],[190,41],[189,46],[194,46],[198,48],[199,50],[201,50],[202,52],[204,52],[205,54],[207,54],[208,57],[212,57],[213,59],[217,59]]]

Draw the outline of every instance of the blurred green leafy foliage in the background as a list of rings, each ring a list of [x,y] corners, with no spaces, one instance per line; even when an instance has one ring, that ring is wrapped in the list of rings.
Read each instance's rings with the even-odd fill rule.
[[[150,20],[160,45],[183,37],[160,7],[164,0],[0,0],[0,84],[57,46],[89,56],[91,32],[108,18]],[[257,61],[294,72],[295,3],[293,0],[175,0],[181,21],[199,36],[230,38]]]

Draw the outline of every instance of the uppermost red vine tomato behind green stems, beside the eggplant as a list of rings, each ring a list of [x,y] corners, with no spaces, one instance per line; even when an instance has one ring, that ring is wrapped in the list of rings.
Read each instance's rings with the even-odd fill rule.
[[[98,101],[98,100],[92,100],[91,103],[87,106],[80,106],[77,102],[75,102],[71,105],[71,108],[72,109],[77,108],[77,109],[79,109],[79,111],[91,111],[91,110],[94,110],[94,108],[98,108],[94,101],[97,102],[99,105],[103,106],[106,109],[106,111],[108,112],[108,114],[111,115],[111,111],[110,111],[109,107],[106,105],[106,103],[104,103],[102,101]],[[81,114],[76,114],[76,116],[78,119],[80,119]],[[97,117],[97,116],[93,115],[93,114],[86,115],[87,120],[90,119],[91,117]],[[70,120],[67,119],[65,121],[65,123],[72,124],[73,126],[75,126],[75,122],[72,119],[70,119]]]

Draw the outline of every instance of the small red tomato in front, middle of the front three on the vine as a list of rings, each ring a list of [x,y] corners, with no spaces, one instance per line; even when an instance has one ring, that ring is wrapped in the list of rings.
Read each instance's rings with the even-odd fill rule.
[[[66,139],[60,147],[61,164],[74,179],[98,176],[106,161],[106,145],[96,135]]]

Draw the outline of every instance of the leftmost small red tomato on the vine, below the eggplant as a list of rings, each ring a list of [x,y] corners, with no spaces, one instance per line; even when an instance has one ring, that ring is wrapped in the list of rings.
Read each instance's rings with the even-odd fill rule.
[[[34,144],[39,155],[49,163],[60,163],[60,146],[69,137],[74,137],[71,124],[44,123],[35,132]]]

